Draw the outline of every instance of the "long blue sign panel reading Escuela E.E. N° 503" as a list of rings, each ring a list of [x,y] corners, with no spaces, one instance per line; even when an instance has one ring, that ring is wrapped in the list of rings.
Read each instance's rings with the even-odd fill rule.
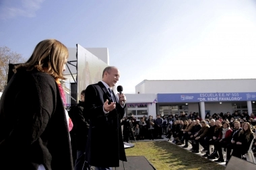
[[[160,102],[199,102],[199,101],[256,101],[256,92],[158,94],[158,103]]]

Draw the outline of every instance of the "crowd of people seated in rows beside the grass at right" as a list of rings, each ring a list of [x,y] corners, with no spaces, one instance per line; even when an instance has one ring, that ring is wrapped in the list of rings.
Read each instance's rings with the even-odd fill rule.
[[[176,117],[176,118],[175,118]],[[180,116],[181,117],[181,116]],[[239,114],[234,112],[230,114],[213,114],[207,113],[204,120],[201,120],[193,113],[187,116],[188,120],[179,120],[179,116],[169,116],[173,123],[168,128],[168,140],[173,137],[172,142],[177,145],[188,147],[191,143],[193,153],[199,153],[199,144],[205,154],[202,157],[207,159],[216,159],[215,162],[228,163],[231,156],[245,159],[251,142],[252,150],[256,151],[256,118],[254,114],[244,112]],[[184,119],[184,117],[183,117]],[[214,150],[210,146],[214,146]],[[222,152],[226,152],[224,160]],[[211,154],[210,154],[211,153]]]

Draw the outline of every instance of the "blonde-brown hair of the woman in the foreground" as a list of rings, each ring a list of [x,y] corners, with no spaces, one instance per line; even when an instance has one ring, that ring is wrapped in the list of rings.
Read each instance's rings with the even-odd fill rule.
[[[55,79],[63,77],[63,65],[69,56],[67,47],[54,39],[42,40],[34,48],[34,52],[24,64],[18,65],[13,70],[15,73],[20,70],[32,71],[34,69],[48,73]]]

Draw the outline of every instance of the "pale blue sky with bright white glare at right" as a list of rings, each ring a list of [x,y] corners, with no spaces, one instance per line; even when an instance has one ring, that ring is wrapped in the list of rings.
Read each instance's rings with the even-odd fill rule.
[[[256,1],[1,0],[0,46],[108,48],[123,93],[148,80],[255,79]]]

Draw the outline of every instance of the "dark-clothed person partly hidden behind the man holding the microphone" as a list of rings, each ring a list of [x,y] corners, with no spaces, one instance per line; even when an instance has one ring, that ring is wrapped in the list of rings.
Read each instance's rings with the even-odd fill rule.
[[[73,108],[73,123],[75,128],[75,146],[77,154],[75,170],[90,169],[90,165],[85,161],[86,142],[90,125],[88,118],[83,115],[85,93],[85,90],[81,92],[81,100],[75,108]]]

